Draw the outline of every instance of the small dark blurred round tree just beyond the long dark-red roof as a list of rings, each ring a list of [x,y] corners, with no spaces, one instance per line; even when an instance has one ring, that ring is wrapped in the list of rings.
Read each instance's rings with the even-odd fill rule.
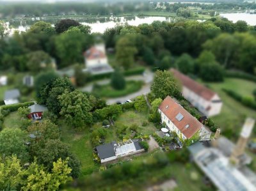
[[[179,68],[179,71],[185,74],[193,73],[195,68],[195,61],[189,54],[182,54],[176,61],[175,66]]]

